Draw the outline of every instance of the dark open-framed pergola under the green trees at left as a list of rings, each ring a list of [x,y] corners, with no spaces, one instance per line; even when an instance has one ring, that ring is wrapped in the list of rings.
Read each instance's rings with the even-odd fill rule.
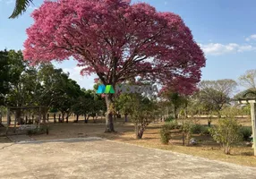
[[[35,119],[36,122],[36,127],[34,124],[34,120],[32,121],[32,125],[31,124],[27,124],[27,115],[26,115],[26,122],[25,124],[20,123],[20,129],[34,129],[34,128],[38,128],[40,127],[40,123],[41,123],[41,111],[42,108],[44,107],[7,107],[7,124],[6,124],[6,135],[8,134],[8,130],[9,127],[11,125],[11,112],[15,112],[15,117],[14,117],[14,133],[16,133],[17,130],[17,112],[20,111],[21,113],[23,111],[26,110],[35,110],[36,114],[37,114],[37,119]],[[24,115],[23,115],[24,116]],[[20,116],[21,117],[21,116]],[[24,120],[24,118],[23,118]]]

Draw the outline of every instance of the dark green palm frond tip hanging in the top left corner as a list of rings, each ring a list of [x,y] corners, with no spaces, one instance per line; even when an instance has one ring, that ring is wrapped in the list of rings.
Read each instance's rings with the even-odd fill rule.
[[[22,13],[25,13],[30,4],[33,4],[33,0],[16,0],[13,13],[9,19],[14,19]]]

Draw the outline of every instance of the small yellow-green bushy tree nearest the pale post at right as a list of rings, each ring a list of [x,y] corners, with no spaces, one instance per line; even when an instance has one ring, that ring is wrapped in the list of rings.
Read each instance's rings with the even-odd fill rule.
[[[230,154],[232,145],[242,140],[241,126],[234,117],[219,119],[216,127],[210,128],[209,132],[213,139],[221,144],[225,154]]]

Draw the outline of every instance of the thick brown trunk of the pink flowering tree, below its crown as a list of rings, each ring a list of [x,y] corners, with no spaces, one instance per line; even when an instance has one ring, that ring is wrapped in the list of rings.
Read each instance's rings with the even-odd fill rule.
[[[113,108],[114,108],[114,103],[113,103],[113,95],[112,94],[107,94],[106,97],[106,104],[107,104],[107,114],[106,114],[106,130],[105,132],[115,132],[114,130],[114,123],[113,123]]]

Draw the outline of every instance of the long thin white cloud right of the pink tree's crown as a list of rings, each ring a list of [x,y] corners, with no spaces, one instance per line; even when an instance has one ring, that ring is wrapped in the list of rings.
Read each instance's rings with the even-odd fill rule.
[[[219,43],[209,43],[209,44],[199,44],[199,45],[206,55],[224,55],[229,53],[256,50],[256,47],[252,47],[249,45],[238,45],[235,43],[229,43],[226,45],[219,44]]]

